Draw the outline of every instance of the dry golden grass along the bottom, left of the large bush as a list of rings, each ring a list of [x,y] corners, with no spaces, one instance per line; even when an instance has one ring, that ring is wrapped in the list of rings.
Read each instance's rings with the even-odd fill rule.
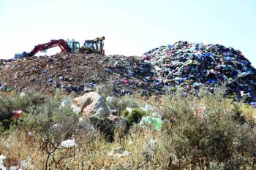
[[[136,131],[136,133],[134,133]],[[148,140],[160,137],[159,132],[143,130],[134,127],[131,130],[132,135],[122,139],[121,143],[106,142],[100,135],[96,134],[93,141],[84,142],[80,136],[73,136],[78,147],[59,149],[50,156],[50,169],[135,169],[142,166],[147,161],[144,158]],[[80,134],[83,135],[83,134]],[[131,152],[131,155],[124,157],[116,157],[115,155],[108,155],[110,150],[123,148]],[[6,155],[6,165],[17,165],[18,161],[31,159],[30,163],[37,167],[37,169],[45,169],[47,152],[42,148],[42,140],[37,135],[28,136],[23,131],[14,131],[12,134],[3,136],[0,139],[0,155]],[[70,155],[69,158],[63,158]],[[53,162],[53,157],[55,161]],[[158,165],[158,169],[162,169],[164,165]],[[166,166],[166,165],[165,165]],[[151,169],[148,167],[148,169]]]

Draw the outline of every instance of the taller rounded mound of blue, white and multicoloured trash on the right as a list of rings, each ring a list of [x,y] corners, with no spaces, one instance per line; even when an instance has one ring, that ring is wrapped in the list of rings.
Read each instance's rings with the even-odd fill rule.
[[[227,95],[255,104],[256,70],[232,47],[179,41],[148,51],[144,60],[153,68],[153,77],[147,79],[159,92],[182,87],[185,94],[196,94],[203,86],[214,90],[224,85]]]

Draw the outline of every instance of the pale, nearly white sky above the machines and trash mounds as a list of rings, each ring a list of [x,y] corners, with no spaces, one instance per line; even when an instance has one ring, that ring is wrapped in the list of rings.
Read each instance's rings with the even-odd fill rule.
[[[234,47],[256,66],[255,0],[0,0],[0,23],[0,58],[50,39],[105,36],[108,55],[187,40]]]

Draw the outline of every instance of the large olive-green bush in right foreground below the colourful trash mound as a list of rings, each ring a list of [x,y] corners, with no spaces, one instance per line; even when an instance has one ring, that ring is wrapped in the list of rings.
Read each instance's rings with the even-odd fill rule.
[[[172,139],[165,147],[172,152],[170,160],[177,160],[170,167],[239,169],[252,165],[255,125],[248,123],[242,110],[221,93],[200,95],[200,100],[179,94],[165,98],[164,116],[175,120],[174,124],[164,126],[165,140]],[[200,104],[207,112],[199,116],[195,108]]]

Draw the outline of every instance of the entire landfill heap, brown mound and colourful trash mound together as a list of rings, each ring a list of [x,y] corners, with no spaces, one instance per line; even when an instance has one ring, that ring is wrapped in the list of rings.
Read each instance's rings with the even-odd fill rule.
[[[176,93],[197,95],[200,88],[224,86],[236,101],[256,106],[256,70],[239,50],[222,45],[179,41],[148,51],[143,57],[57,53],[0,60],[0,90],[87,93],[101,85],[110,96]]]

